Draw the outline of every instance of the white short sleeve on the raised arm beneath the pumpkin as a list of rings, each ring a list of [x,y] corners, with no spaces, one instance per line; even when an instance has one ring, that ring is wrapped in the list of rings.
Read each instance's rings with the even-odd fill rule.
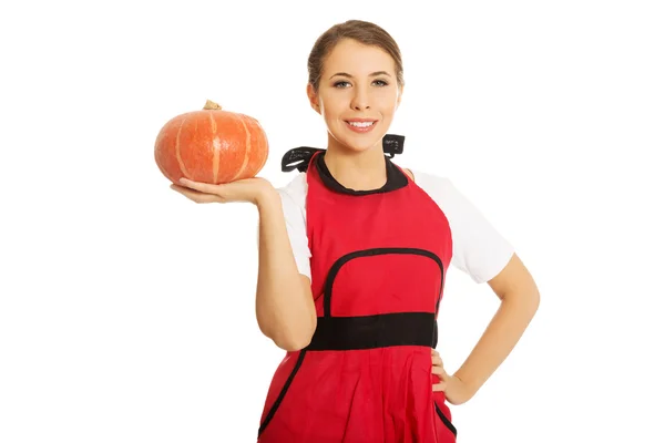
[[[307,195],[305,174],[299,174],[286,186],[277,188],[277,193],[282,198],[286,231],[294,251],[298,272],[311,279],[309,265],[311,253],[309,250],[309,239],[307,238],[307,218],[305,213]]]

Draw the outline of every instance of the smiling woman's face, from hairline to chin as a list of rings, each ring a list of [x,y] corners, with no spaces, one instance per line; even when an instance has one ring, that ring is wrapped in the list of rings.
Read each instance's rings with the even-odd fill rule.
[[[348,39],[326,59],[318,93],[311,85],[307,93],[328,126],[329,143],[355,152],[381,145],[401,100],[392,58]]]

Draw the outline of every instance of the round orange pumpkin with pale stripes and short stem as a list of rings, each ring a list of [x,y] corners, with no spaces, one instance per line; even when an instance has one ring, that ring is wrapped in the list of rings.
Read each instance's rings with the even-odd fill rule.
[[[256,119],[223,111],[209,100],[166,122],[155,141],[155,162],[177,184],[181,177],[223,184],[255,177],[268,158],[268,141]]]

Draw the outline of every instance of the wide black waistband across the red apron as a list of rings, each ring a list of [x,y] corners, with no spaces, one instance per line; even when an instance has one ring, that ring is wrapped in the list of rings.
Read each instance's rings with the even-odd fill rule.
[[[397,312],[366,317],[319,317],[313,351],[347,351],[395,346],[436,347],[437,320],[430,312]]]

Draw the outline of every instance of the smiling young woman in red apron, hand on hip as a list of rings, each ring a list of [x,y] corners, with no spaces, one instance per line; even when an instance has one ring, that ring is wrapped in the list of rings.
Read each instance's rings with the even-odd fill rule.
[[[301,161],[295,179],[280,189],[262,178],[173,186],[198,203],[258,208],[256,317],[287,351],[258,441],[454,442],[447,402],[467,402],[507,358],[538,309],[538,288],[449,179],[386,156],[403,79],[383,29],[357,20],[332,27],[308,69],[307,95],[328,145],[287,153],[287,163]],[[434,350],[449,266],[501,299],[452,375]]]

